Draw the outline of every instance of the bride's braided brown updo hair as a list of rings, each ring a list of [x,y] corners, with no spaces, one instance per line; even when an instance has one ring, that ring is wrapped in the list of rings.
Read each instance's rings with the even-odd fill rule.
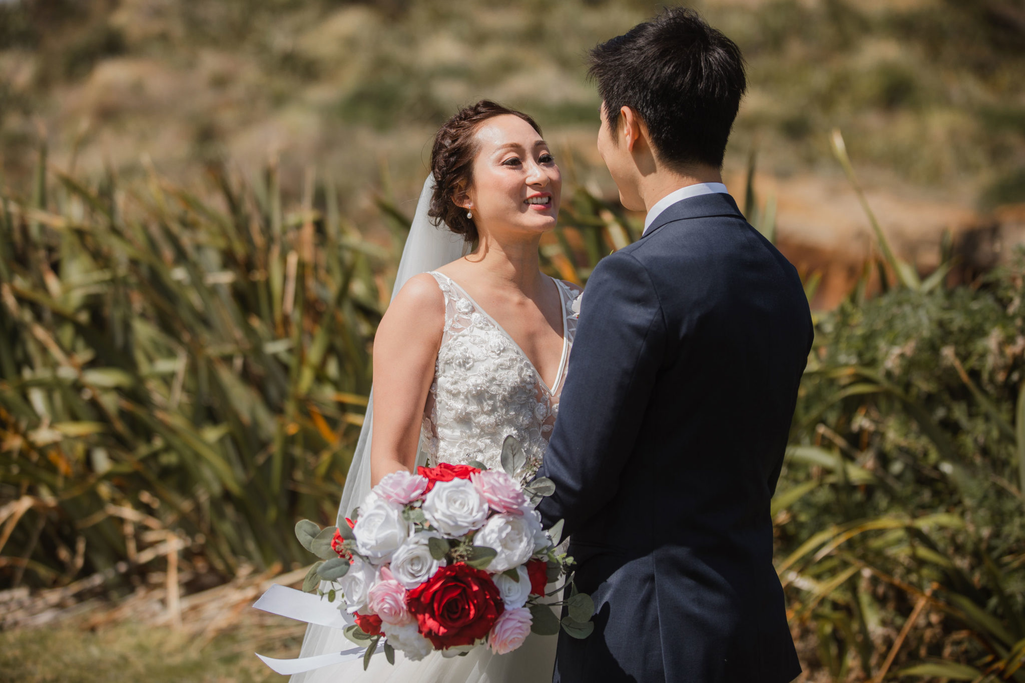
[[[490,99],[482,99],[459,110],[435,135],[435,145],[430,151],[435,191],[427,215],[435,219],[436,225],[444,221],[450,230],[461,234],[466,242],[477,241],[477,225],[473,218],[466,218],[466,210],[456,204],[456,200],[461,200],[474,184],[474,158],[479,151],[474,136],[482,123],[504,114],[520,117],[541,134],[541,129],[530,116]]]

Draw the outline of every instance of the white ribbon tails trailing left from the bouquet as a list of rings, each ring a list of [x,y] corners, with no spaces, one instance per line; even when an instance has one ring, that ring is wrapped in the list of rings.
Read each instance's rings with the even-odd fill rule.
[[[344,629],[350,624],[355,623],[348,612],[338,609],[327,600],[313,593],[303,593],[302,591],[296,591],[294,588],[288,588],[280,584],[271,586],[259,597],[259,600],[253,603],[253,607],[271,612],[272,614],[294,618],[297,622],[317,624],[331,629]],[[383,647],[384,644],[378,641],[377,649],[374,652],[380,651]],[[366,651],[365,647],[353,647],[340,652],[329,652],[327,654],[318,654],[312,657],[296,657],[294,659],[275,659],[274,657],[265,657],[259,653],[256,656],[277,673],[289,676],[359,659],[365,656]]]

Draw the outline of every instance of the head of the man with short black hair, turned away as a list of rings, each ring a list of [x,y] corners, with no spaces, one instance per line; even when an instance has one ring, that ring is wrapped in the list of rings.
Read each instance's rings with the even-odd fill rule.
[[[602,43],[590,76],[603,100],[599,150],[624,204],[638,204],[629,195],[654,170],[646,164],[689,176],[722,168],[746,88],[744,60],[697,12],[671,7]]]

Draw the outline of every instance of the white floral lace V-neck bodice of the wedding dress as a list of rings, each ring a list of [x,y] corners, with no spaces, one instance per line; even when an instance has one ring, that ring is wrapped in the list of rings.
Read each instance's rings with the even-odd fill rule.
[[[445,329],[420,432],[427,463],[477,460],[501,469],[502,441],[515,436],[531,473],[541,465],[576,333],[580,291],[557,280],[563,354],[548,387],[512,338],[454,281],[432,272],[445,296]]]

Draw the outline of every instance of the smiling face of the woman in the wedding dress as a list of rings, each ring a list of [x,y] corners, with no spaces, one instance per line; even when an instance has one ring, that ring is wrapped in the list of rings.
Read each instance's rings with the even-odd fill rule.
[[[477,140],[467,195],[478,230],[540,233],[555,228],[563,178],[547,142],[511,114],[482,123]]]

